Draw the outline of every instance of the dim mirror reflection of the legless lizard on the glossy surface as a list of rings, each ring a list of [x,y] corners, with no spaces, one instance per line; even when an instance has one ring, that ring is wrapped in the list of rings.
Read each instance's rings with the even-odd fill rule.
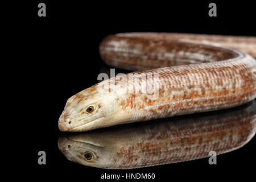
[[[208,158],[244,146],[256,132],[255,101],[234,109],[60,137],[67,159],[85,166],[127,169]],[[86,154],[92,156],[86,160]]]

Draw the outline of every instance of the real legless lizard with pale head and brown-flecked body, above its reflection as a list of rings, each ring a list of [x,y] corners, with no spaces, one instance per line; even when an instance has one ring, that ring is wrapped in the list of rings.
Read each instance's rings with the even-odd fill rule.
[[[106,64],[143,70],[133,72],[130,77],[127,74],[102,81],[69,98],[59,119],[59,129],[88,131],[225,109],[256,97],[256,61],[253,57],[230,48],[178,42],[172,38],[172,34],[117,34],[105,38],[100,53]],[[235,42],[242,45],[250,42],[248,52],[253,52],[255,38],[251,39],[229,36],[225,40],[232,40],[236,48],[239,44]],[[220,41],[220,45],[223,42]],[[149,75],[154,78],[150,84],[153,89],[149,91],[155,94],[138,92]],[[134,82],[134,78],[138,82]],[[106,84],[113,87],[100,92],[99,88]],[[87,111],[89,106],[94,108],[92,113]]]

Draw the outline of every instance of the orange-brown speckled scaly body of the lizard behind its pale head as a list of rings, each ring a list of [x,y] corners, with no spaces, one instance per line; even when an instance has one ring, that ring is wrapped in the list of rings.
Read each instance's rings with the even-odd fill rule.
[[[256,61],[253,57],[234,49],[179,42],[176,36],[117,34],[102,41],[100,53],[106,64],[142,69],[133,73],[159,75],[155,82],[159,84],[157,99],[152,100],[148,94],[141,93],[121,96],[120,108],[127,113],[123,115],[122,123],[225,109],[256,97]],[[205,35],[200,41],[203,38],[206,39]],[[226,38],[226,42],[231,38]],[[237,41],[255,46],[254,39],[240,37]],[[210,38],[207,40],[209,42]],[[233,40],[235,42],[236,38]],[[130,88],[137,86],[127,82]]]

